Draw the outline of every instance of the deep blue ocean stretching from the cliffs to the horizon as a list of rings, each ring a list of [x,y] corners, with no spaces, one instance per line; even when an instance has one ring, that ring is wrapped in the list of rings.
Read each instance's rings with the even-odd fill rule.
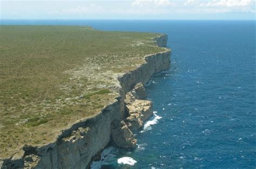
[[[5,20],[2,24],[91,25],[168,34],[170,71],[146,87],[155,116],[138,149],[109,147],[95,168],[255,168],[255,21]],[[157,122],[157,123],[156,123]],[[150,124],[154,124],[149,126]]]

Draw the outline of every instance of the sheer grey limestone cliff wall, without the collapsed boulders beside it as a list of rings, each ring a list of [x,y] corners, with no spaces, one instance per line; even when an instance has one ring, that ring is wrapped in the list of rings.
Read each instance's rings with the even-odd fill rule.
[[[163,35],[155,40],[159,47],[165,47],[167,36]],[[169,69],[170,54],[171,51],[166,48],[165,52],[148,55],[144,64],[119,76],[120,96],[98,115],[73,124],[51,144],[42,147],[23,147],[22,153],[0,161],[0,168],[85,168],[91,158],[110,142],[113,122],[120,122],[129,116],[125,111],[126,93],[139,82],[145,84],[154,73]],[[148,113],[145,115],[149,116]],[[122,123],[120,126],[126,129],[126,124]],[[124,133],[130,136],[129,130]]]

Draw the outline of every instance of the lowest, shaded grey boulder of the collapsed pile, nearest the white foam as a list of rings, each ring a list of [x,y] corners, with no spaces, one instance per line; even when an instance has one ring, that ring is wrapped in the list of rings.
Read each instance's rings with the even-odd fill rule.
[[[111,125],[111,136],[117,146],[125,149],[135,149],[137,140],[124,121],[113,121]]]

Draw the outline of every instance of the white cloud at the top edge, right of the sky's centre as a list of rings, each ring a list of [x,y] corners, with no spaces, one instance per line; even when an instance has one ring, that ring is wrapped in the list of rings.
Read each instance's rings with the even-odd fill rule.
[[[172,5],[169,0],[135,0],[131,3],[132,6],[139,7],[167,7]]]

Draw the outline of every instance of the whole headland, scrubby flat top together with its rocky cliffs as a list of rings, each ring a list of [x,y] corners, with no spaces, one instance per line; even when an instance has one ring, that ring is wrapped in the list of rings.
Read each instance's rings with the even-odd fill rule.
[[[152,115],[144,84],[167,36],[89,26],[0,26],[0,167],[82,168]]]

